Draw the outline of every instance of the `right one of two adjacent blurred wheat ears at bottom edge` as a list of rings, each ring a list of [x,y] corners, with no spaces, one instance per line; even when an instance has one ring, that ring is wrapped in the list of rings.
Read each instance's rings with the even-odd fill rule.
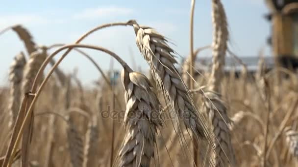
[[[96,118],[96,117],[94,117]],[[99,128],[96,124],[97,120],[88,125],[86,132],[86,140],[84,147],[84,161],[83,167],[97,167],[98,164],[98,139],[99,139]]]

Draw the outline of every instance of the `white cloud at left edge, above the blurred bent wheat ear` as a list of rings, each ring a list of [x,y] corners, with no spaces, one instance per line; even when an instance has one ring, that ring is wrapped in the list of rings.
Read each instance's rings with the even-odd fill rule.
[[[0,16],[0,27],[7,27],[14,24],[36,25],[47,23],[48,21],[39,15],[18,14]]]

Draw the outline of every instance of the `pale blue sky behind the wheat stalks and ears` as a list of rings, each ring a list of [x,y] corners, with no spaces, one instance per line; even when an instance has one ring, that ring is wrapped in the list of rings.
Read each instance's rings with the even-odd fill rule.
[[[0,29],[21,23],[32,33],[38,44],[75,42],[84,32],[113,21],[137,20],[157,29],[174,43],[182,56],[189,53],[189,10],[191,0],[6,0],[1,2]],[[212,41],[211,0],[197,0],[195,10],[195,47]],[[255,56],[270,33],[270,24],[263,15],[268,12],[263,0],[222,0],[228,16],[230,47],[240,56]],[[132,66],[129,47],[137,66],[149,68],[135,44],[131,27],[117,27],[99,31],[83,43],[107,47],[121,55]],[[9,64],[24,45],[12,31],[0,36],[0,84],[7,84]],[[270,54],[267,47],[266,53]],[[50,52],[52,52],[51,50]],[[108,69],[110,57],[87,50],[103,69]],[[199,56],[207,56],[203,52]],[[115,68],[120,65],[115,62]],[[91,63],[74,53],[61,64],[66,72],[78,67],[78,76],[85,84],[99,77]],[[135,69],[136,70],[136,69]]]

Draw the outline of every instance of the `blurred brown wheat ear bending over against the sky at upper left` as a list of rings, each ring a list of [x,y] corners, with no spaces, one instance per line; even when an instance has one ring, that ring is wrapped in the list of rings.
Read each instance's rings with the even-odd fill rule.
[[[22,25],[16,25],[12,27],[12,30],[14,30],[18,34],[19,38],[25,43],[25,47],[29,55],[37,51],[36,44],[27,29],[25,29]]]

